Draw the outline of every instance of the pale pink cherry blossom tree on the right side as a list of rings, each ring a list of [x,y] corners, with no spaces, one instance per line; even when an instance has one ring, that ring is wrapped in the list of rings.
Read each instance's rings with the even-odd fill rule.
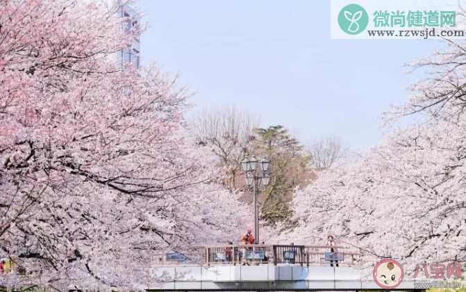
[[[448,42],[415,63],[430,73],[387,117],[420,118],[297,192],[293,236],[315,243],[333,234],[365,250],[369,263],[394,257],[408,273],[418,263],[466,261],[465,51]]]

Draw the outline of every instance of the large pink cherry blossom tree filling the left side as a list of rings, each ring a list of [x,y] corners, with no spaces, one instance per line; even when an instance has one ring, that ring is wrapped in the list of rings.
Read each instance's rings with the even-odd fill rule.
[[[117,62],[140,33],[118,9],[0,1],[0,257],[17,265],[0,286],[148,288],[157,253],[247,218],[183,128],[187,92]]]

